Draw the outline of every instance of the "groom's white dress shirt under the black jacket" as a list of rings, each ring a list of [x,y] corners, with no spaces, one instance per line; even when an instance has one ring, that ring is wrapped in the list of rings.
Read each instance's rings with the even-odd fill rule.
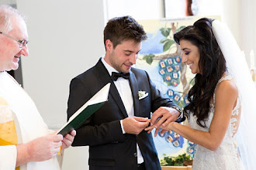
[[[108,70],[109,75],[111,76],[112,72],[119,73],[119,71],[114,69],[108,63],[106,63],[104,58],[105,56],[102,57],[102,63],[106,67],[106,70]],[[132,90],[130,89],[129,80],[126,80],[123,77],[119,77],[116,81],[114,81],[114,83],[123,101],[123,105],[126,108],[126,113],[128,114],[128,117],[133,117],[134,116],[133,96],[132,96]],[[123,120],[120,121],[120,124],[121,124],[123,134],[125,134],[126,132],[123,130]],[[141,164],[143,162],[144,162],[144,158],[142,157],[139,145],[137,144],[137,163]]]

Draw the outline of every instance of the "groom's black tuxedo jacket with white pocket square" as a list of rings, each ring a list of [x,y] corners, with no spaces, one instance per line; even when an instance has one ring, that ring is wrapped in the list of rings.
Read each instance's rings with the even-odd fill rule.
[[[146,71],[131,68],[129,81],[135,116],[150,118],[150,112],[154,112],[158,107],[175,105],[156,89]],[[138,135],[123,134],[120,120],[128,116],[118,90],[101,59],[90,70],[71,80],[67,118],[69,119],[78,108],[109,82],[111,86],[108,102],[77,129],[72,146],[89,145],[90,169],[133,170],[137,169],[138,143],[146,169],[160,170],[161,166],[151,134],[147,134],[147,131],[141,131]],[[139,90],[145,91],[148,96],[139,100]]]

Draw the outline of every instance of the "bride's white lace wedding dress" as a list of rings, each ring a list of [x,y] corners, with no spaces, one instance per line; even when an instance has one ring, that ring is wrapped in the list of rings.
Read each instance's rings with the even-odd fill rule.
[[[232,80],[230,75],[223,76],[218,83],[223,80]],[[218,85],[217,83],[217,85]],[[215,92],[213,94],[213,104],[210,104],[209,117],[206,121],[206,128],[202,128],[196,123],[197,118],[190,113],[189,125],[199,131],[209,131],[209,126],[213,120],[215,108]],[[240,114],[240,95],[237,97],[237,104],[232,110],[230,124],[220,147],[216,151],[211,151],[200,145],[196,146],[195,157],[192,165],[193,170],[238,170],[241,168],[240,158],[237,151],[235,134],[237,132]]]

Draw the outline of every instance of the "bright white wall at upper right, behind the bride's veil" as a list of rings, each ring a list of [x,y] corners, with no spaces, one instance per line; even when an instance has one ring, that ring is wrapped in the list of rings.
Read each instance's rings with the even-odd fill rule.
[[[233,32],[250,67],[250,52],[251,50],[254,50],[254,53],[256,52],[256,2],[255,0],[227,0],[222,2],[223,21]]]

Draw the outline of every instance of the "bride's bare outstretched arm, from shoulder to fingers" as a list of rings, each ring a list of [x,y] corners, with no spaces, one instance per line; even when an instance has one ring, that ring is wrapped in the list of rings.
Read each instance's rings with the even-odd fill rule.
[[[189,141],[214,151],[219,148],[226,134],[232,110],[236,105],[237,95],[237,87],[232,81],[225,80],[218,85],[215,93],[215,112],[209,131],[195,130],[175,122],[171,122],[166,126],[161,124],[161,128],[175,131]],[[156,124],[152,127],[155,128],[155,126]]]

